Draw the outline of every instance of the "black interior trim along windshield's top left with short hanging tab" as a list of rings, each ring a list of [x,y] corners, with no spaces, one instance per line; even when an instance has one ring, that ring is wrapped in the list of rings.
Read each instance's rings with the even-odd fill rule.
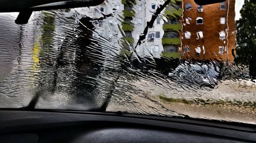
[[[0,12],[19,12],[15,23],[26,24],[33,11],[97,6],[104,0],[0,0]]]

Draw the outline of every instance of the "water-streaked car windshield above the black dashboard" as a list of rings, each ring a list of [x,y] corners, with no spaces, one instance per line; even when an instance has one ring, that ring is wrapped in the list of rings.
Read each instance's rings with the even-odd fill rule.
[[[256,5],[109,0],[0,13],[0,108],[256,124]]]

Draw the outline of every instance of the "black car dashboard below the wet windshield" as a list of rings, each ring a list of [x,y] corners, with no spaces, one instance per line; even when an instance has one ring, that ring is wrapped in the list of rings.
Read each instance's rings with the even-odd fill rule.
[[[0,142],[255,142],[253,125],[65,111],[0,111]]]

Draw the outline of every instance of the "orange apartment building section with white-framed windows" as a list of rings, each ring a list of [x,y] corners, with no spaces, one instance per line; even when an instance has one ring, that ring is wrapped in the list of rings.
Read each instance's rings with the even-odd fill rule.
[[[236,25],[235,0],[199,6],[183,0],[181,59],[233,63]]]

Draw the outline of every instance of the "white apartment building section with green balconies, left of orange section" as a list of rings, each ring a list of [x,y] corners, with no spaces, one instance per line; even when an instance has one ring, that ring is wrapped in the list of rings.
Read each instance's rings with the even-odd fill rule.
[[[158,15],[153,27],[148,28],[144,42],[136,47],[136,53],[139,56],[180,58],[178,47],[181,44],[179,38],[182,28],[179,19],[183,11],[181,2],[182,0],[170,2]],[[100,36],[115,41],[111,44],[120,48],[120,54],[130,54],[131,49],[133,50],[137,45],[147,22],[151,20],[157,8],[164,3],[164,1],[155,0],[111,0],[99,6],[90,7],[90,11],[94,12],[94,17],[102,16],[101,13],[104,15],[114,13],[114,17],[106,19],[105,24],[95,25],[96,31]]]

